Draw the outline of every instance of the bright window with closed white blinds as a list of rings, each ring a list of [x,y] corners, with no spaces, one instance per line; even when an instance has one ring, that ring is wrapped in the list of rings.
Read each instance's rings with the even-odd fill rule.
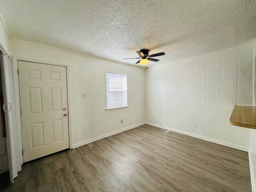
[[[127,78],[125,74],[106,72],[107,108],[127,106]]]

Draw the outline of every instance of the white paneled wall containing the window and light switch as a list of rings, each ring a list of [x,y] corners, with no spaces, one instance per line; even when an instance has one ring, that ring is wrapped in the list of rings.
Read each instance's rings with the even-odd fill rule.
[[[73,147],[144,124],[144,70],[16,40],[12,41],[12,54],[15,58],[68,66]],[[106,71],[127,74],[128,108],[105,110]],[[87,93],[87,98],[82,98],[82,93]]]

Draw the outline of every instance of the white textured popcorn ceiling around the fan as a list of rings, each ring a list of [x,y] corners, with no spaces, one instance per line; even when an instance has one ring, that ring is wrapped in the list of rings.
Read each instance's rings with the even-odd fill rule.
[[[256,38],[256,0],[0,0],[12,38],[126,64],[162,64]],[[136,64],[138,65],[138,64]]]

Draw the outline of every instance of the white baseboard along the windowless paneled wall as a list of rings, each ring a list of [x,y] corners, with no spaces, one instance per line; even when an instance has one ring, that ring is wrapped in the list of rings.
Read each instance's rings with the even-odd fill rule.
[[[155,126],[155,127],[158,127],[158,128],[166,129],[164,126],[161,126],[161,125],[158,125],[158,124],[154,124],[154,123],[150,123],[150,122],[146,122],[146,124],[149,124],[149,125],[152,125],[152,126]],[[196,134],[193,134],[193,133],[189,133],[189,132],[186,132],[186,131],[181,131],[181,130],[177,130],[177,129],[173,129],[173,128],[169,128],[169,129],[171,131],[181,133],[181,134],[184,134],[184,135],[188,135],[188,136],[192,136],[192,137],[195,137],[195,138],[199,138],[199,139],[202,139],[202,140],[214,142],[214,143],[217,143],[217,144],[232,147],[232,148],[239,149],[239,150],[246,151],[246,152],[249,151],[249,148],[246,148],[246,147],[243,147],[243,146],[240,146],[240,145],[236,145],[236,144],[232,144],[232,143],[228,143],[228,142],[208,138],[208,137],[205,137],[205,136],[196,135]]]

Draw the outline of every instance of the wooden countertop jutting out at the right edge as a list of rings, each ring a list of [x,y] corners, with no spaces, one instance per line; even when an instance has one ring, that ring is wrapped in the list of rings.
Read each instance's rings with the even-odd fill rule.
[[[256,129],[256,106],[235,105],[229,120],[232,125]]]

